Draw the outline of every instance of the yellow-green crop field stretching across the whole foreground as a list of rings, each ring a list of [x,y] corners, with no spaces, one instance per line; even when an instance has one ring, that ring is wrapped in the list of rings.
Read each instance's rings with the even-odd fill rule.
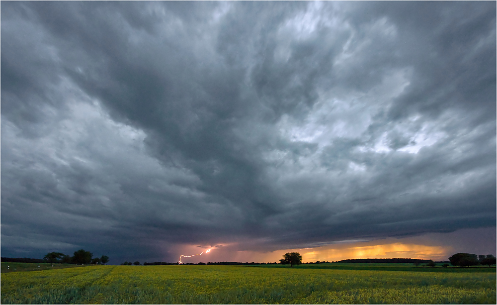
[[[2,273],[1,303],[496,304],[495,271],[86,266]]]

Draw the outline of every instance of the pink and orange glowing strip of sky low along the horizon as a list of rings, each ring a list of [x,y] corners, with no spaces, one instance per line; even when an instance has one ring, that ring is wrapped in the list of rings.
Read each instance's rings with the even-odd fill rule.
[[[482,235],[485,233],[484,235]],[[493,234],[493,235],[492,235]],[[474,238],[468,241],[468,236]],[[383,239],[350,239],[336,241],[330,244],[312,247],[309,244],[288,245],[294,248],[273,248],[269,240],[242,240],[233,242],[223,242],[217,244],[182,244],[175,245],[174,256],[181,253],[198,253],[201,249],[206,249],[202,253],[205,259],[211,262],[278,262],[283,254],[287,252],[299,252],[302,261],[340,261],[345,259],[361,258],[418,258],[432,259],[434,261],[446,261],[449,256],[456,252],[467,253],[490,253],[495,254],[495,249],[487,247],[487,240],[481,236],[489,236],[490,241],[495,243],[495,228],[483,229],[461,229],[449,233],[426,233],[418,236],[407,237],[387,237]],[[262,246],[258,243],[261,242]],[[171,247],[165,248],[168,251]],[[212,252],[210,250],[216,249]],[[209,251],[209,252],[208,252]],[[474,252],[472,252],[474,251]],[[201,254],[202,254],[201,253]],[[172,254],[172,253],[171,253]],[[203,254],[202,254],[203,255]],[[199,256],[199,254],[192,255]],[[187,256],[180,256],[180,259]],[[188,256],[191,257],[191,256]],[[198,262],[201,257],[191,258],[188,262]]]

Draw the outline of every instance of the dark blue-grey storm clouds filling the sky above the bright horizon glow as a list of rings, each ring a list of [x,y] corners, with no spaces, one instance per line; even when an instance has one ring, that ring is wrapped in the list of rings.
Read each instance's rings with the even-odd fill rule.
[[[3,257],[495,254],[496,183],[495,1],[1,3]]]

